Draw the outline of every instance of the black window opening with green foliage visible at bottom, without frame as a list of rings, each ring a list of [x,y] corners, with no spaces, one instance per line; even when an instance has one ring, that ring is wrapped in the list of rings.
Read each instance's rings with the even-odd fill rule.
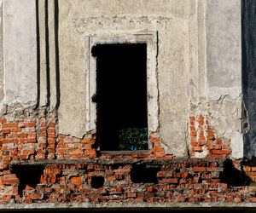
[[[96,138],[102,151],[148,149],[147,44],[98,44]]]

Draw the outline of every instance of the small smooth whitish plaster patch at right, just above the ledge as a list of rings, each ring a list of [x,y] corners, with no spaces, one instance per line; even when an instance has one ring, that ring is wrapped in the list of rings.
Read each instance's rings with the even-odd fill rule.
[[[232,158],[243,158],[243,137],[236,131],[231,137]]]

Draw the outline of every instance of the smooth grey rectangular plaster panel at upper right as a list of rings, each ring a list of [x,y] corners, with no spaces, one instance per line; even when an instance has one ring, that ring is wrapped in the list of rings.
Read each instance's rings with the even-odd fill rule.
[[[209,99],[241,95],[241,1],[207,0]]]

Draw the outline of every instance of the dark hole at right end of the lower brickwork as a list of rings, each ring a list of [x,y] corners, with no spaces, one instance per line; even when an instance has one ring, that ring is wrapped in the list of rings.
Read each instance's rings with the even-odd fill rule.
[[[249,185],[252,180],[243,170],[237,170],[230,159],[224,162],[224,170],[219,175],[220,181],[229,186],[239,187]]]

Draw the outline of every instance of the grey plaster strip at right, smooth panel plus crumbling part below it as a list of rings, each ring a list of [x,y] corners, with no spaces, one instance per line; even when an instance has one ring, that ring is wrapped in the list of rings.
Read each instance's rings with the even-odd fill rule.
[[[241,1],[207,0],[206,35],[209,119],[233,158],[242,158]]]

